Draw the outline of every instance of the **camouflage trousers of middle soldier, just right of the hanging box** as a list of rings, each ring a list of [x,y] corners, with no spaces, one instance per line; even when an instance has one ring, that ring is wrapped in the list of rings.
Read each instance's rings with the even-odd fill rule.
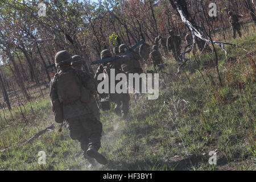
[[[129,113],[129,101],[130,96],[128,93],[112,93],[110,94],[110,100],[115,104],[115,113],[121,115],[121,104],[124,115]]]

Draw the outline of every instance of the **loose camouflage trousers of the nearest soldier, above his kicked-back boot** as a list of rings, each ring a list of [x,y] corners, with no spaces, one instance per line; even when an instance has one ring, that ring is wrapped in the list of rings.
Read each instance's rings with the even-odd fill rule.
[[[92,114],[80,115],[68,119],[70,137],[79,140],[84,152],[89,147],[98,150],[101,147],[102,124]]]

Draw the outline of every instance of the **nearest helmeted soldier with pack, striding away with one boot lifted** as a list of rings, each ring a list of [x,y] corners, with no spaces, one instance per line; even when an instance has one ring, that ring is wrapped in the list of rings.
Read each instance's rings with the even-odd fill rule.
[[[55,55],[55,65],[59,72],[56,73],[49,84],[55,121],[61,123],[67,120],[71,138],[79,140],[84,151],[83,156],[91,164],[95,164],[94,159],[98,163],[107,164],[106,158],[98,153],[101,147],[102,124],[94,116],[92,109],[88,105],[90,102],[94,102],[92,94],[96,92],[96,88],[88,73],[73,69],[71,61],[71,55],[65,50],[57,52]],[[75,81],[69,79],[70,76]],[[81,92],[81,90],[86,90],[86,92]],[[79,95],[77,92],[80,93],[79,97],[77,97]],[[68,97],[64,98],[63,93],[67,94]]]

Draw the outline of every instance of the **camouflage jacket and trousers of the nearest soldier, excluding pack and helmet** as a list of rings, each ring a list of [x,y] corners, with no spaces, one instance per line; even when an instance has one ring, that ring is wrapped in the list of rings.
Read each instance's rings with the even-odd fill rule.
[[[80,78],[82,86],[88,89],[91,94],[96,92],[93,80],[88,73],[71,67],[60,68],[60,71],[73,71]],[[58,100],[56,82],[57,77],[53,77],[49,86],[51,102]],[[91,102],[95,102],[95,100],[92,99]],[[86,104],[77,100],[72,104],[62,106],[64,119],[67,119],[69,123],[71,138],[79,140],[84,152],[86,152],[88,146],[94,146],[97,150],[100,148],[102,125],[93,113],[93,104],[96,103]]]

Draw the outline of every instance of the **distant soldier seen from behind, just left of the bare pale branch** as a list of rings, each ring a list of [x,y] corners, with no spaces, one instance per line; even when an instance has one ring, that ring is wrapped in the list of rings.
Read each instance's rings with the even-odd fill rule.
[[[174,56],[177,62],[180,62],[179,56],[181,53],[181,39],[179,35],[174,35],[174,31],[169,32],[170,36],[167,39],[167,49],[169,52],[172,51],[172,55]]]

